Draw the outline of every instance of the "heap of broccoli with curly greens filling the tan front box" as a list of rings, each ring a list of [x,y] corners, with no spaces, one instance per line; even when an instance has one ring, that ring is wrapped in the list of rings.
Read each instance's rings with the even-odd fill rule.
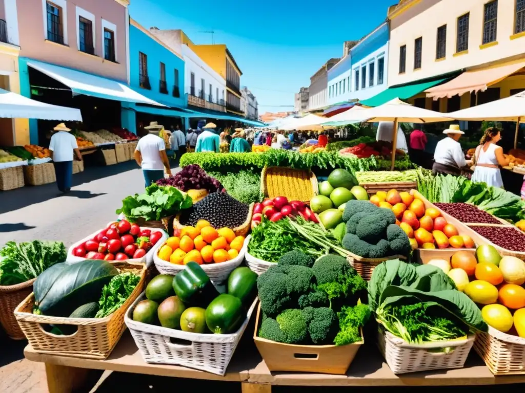
[[[280,343],[348,345],[362,341],[370,317],[358,304],[366,282],[345,258],[318,260],[298,251],[283,255],[257,279],[262,312],[258,336]]]

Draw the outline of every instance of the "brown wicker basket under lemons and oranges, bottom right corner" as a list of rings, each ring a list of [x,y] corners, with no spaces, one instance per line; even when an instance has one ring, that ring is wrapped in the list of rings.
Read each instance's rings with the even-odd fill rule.
[[[489,326],[478,333],[474,350],[494,375],[525,374],[525,339],[500,332]]]

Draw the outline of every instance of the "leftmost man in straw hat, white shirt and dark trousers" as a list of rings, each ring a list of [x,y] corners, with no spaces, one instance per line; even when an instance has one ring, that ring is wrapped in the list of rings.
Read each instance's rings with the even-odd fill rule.
[[[67,194],[71,190],[73,179],[73,153],[79,161],[82,161],[82,155],[78,149],[77,138],[69,134],[70,128],[60,123],[53,129],[56,133],[49,141],[49,150],[55,166],[58,189]]]

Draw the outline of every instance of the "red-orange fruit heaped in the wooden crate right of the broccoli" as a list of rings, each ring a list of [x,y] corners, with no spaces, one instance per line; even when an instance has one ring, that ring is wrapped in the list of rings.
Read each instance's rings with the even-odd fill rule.
[[[396,223],[407,234],[412,248],[473,248],[474,241],[459,235],[457,228],[434,208],[425,209],[422,200],[408,192],[380,191],[370,197],[370,202],[391,210]]]

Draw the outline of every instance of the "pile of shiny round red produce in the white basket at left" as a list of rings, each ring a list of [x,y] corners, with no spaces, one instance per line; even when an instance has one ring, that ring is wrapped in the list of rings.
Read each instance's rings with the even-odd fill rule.
[[[128,220],[111,223],[92,239],[73,249],[73,255],[87,259],[140,259],[162,238],[162,232],[141,229]]]

